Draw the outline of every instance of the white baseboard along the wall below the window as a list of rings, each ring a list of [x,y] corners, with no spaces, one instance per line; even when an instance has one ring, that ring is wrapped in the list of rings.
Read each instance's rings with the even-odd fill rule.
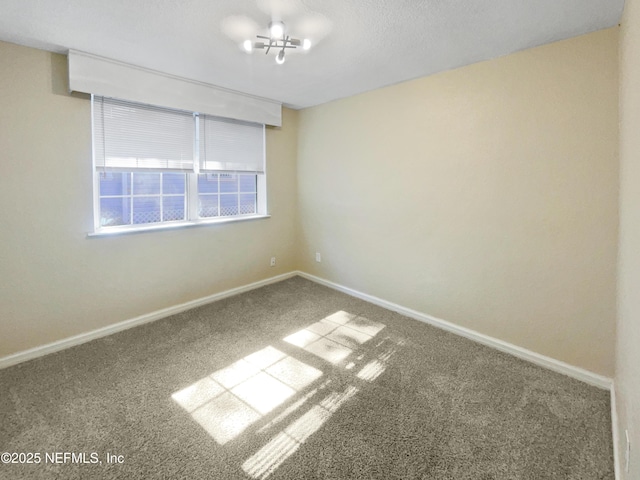
[[[275,277],[267,278],[265,280],[260,280],[258,282],[251,283],[249,285],[232,288],[230,290],[225,290],[224,292],[214,293],[213,295],[209,295],[203,298],[198,298],[196,300],[182,303],[180,305],[174,305],[173,307],[163,308],[161,310],[156,310],[155,312],[146,313],[144,315],[140,315],[139,317],[135,317],[130,320],[125,320],[122,322],[114,323],[113,325],[109,325],[107,327],[99,328],[97,330],[92,330],[90,332],[74,335],[73,337],[64,338],[62,340],[58,340],[53,343],[48,343],[40,347],[31,348],[29,350],[23,350],[22,352],[17,352],[17,353],[8,355],[6,357],[0,358],[0,369],[7,368],[12,365],[17,365],[18,363],[26,362],[27,360],[33,360],[34,358],[38,358],[44,355],[48,355],[50,353],[58,352],[60,350],[64,350],[69,347],[74,347],[82,343],[90,342],[91,340],[95,340],[97,338],[106,337],[107,335],[121,332],[129,328],[137,327],[138,325],[142,325],[144,323],[160,320],[161,318],[169,317],[171,315],[175,315],[176,313],[184,312],[191,308],[199,307],[201,305],[206,305],[207,303],[215,302],[217,300],[222,300],[223,298],[232,297],[240,293],[244,293],[250,290],[254,290],[256,288],[264,287],[265,285],[269,285],[271,283],[280,282],[282,280],[286,280],[287,278],[294,277],[295,275],[297,275],[297,272],[284,273],[282,275],[277,275]]]

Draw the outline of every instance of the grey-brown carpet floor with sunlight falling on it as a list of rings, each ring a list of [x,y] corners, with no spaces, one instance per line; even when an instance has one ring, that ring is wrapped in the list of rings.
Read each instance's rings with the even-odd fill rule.
[[[614,478],[607,391],[300,277],[1,370],[0,422],[3,479]]]

